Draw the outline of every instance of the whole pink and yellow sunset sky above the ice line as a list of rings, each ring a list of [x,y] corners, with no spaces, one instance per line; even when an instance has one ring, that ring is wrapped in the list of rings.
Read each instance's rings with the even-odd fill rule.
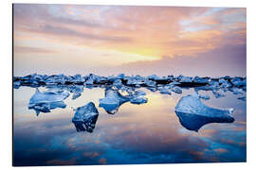
[[[247,75],[247,9],[13,5],[13,74]]]

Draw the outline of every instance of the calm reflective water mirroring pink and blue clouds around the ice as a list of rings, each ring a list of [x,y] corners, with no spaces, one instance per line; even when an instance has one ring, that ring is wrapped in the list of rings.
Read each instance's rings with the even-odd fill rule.
[[[44,87],[39,88],[44,91]],[[14,165],[126,164],[172,162],[229,162],[247,160],[246,102],[227,92],[203,103],[214,108],[234,108],[233,123],[212,123],[198,132],[183,127],[174,108],[182,94],[147,93],[148,102],[124,103],[115,114],[99,107],[104,89],[84,88],[82,95],[64,100],[65,109],[28,110],[35,88],[13,90]],[[72,123],[74,109],[94,102],[99,110],[92,133],[78,132]]]

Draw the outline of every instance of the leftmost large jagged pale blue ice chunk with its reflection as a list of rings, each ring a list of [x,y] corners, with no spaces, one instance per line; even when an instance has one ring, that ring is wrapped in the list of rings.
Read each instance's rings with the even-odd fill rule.
[[[56,108],[65,108],[64,99],[69,93],[63,90],[41,93],[36,89],[36,93],[30,98],[28,109],[36,111],[37,115],[42,112],[50,112]]]

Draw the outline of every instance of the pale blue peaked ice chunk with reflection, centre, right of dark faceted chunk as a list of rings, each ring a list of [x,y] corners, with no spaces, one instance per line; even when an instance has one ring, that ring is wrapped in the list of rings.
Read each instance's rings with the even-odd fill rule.
[[[105,90],[105,98],[100,98],[100,107],[109,114],[115,114],[119,107],[129,101],[129,98],[122,96],[119,91],[108,88]]]

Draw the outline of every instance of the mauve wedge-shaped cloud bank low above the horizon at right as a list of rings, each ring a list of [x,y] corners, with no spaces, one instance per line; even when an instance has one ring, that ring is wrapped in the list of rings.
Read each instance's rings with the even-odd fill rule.
[[[247,45],[225,45],[193,56],[164,56],[158,60],[122,64],[119,72],[134,75],[246,76]],[[111,68],[110,68],[111,69]],[[115,68],[111,70],[115,72]]]

